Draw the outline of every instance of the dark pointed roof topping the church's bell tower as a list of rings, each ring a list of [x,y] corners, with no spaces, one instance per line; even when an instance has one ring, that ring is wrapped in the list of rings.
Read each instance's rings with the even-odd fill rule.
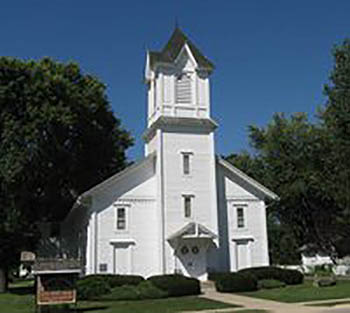
[[[164,46],[162,51],[149,52],[151,67],[153,67],[154,64],[158,62],[173,63],[185,44],[187,44],[190,48],[193,57],[195,58],[199,67],[206,68],[209,71],[212,71],[214,69],[214,64],[199,51],[199,49],[178,27],[175,28],[173,34],[171,35],[169,41]]]

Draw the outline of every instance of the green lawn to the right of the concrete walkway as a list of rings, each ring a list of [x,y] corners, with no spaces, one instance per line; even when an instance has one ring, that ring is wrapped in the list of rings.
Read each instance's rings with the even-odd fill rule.
[[[302,285],[287,286],[278,289],[261,289],[241,294],[280,302],[307,302],[341,299],[350,297],[350,281],[341,280],[338,281],[335,286],[322,288],[312,286],[312,281],[306,281]]]

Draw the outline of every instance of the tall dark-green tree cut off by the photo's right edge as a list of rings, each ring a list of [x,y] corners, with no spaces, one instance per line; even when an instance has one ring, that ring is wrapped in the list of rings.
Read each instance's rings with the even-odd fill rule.
[[[342,209],[338,219],[341,254],[350,254],[350,39],[333,49],[334,66],[324,92],[326,106],[320,117],[329,136],[328,192]],[[344,243],[347,244],[344,244]],[[347,247],[347,248],[346,248]]]

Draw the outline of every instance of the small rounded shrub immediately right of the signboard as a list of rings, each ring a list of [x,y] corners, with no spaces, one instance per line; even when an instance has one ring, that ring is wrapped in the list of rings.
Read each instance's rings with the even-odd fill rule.
[[[106,280],[96,277],[87,277],[77,282],[77,294],[80,300],[93,300],[111,291]]]

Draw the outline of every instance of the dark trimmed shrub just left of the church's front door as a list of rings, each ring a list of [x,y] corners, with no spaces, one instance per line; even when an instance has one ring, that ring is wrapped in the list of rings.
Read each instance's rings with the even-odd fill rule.
[[[198,295],[201,292],[198,279],[179,274],[157,275],[148,280],[157,288],[165,291],[169,297]]]

